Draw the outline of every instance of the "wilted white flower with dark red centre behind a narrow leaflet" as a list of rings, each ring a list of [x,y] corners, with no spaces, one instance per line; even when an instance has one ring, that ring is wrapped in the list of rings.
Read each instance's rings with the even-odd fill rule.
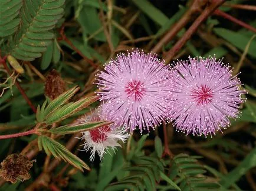
[[[96,110],[90,116],[84,116],[79,119],[80,124],[88,123],[88,122],[97,122],[106,120],[104,115],[102,115],[101,110]],[[122,141],[123,143],[129,137],[129,134],[126,133],[126,128],[114,128],[113,125],[107,125],[100,128],[87,130],[82,133],[81,137],[84,140],[83,150],[91,150],[90,161],[93,161],[95,158],[95,153],[97,152],[100,156],[100,159],[103,158],[104,153],[107,152],[108,149],[116,149],[117,146],[120,146],[118,141]]]

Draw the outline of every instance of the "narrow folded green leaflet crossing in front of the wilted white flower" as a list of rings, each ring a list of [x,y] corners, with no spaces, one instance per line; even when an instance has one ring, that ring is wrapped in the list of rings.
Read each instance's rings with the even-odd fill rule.
[[[55,133],[55,134],[73,134],[73,133],[79,133],[84,132],[86,130],[91,130],[94,128],[100,128],[101,126],[110,125],[110,122],[107,121],[100,121],[100,122],[89,122],[84,123],[83,125],[76,125],[76,126],[60,126],[58,128],[50,129],[49,132]]]

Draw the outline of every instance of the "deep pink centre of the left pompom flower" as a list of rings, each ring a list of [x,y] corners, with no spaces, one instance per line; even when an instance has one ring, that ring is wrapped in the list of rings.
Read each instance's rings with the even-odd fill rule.
[[[124,91],[127,93],[129,98],[132,98],[137,102],[145,96],[146,88],[141,81],[132,80],[127,83]]]

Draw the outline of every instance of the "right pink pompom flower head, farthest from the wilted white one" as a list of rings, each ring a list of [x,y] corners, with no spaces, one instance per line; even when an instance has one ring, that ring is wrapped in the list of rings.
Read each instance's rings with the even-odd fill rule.
[[[189,58],[178,61],[170,72],[173,81],[173,105],[170,118],[178,131],[187,135],[215,135],[230,125],[228,118],[239,116],[239,104],[245,91],[232,77],[232,70],[215,58]]]

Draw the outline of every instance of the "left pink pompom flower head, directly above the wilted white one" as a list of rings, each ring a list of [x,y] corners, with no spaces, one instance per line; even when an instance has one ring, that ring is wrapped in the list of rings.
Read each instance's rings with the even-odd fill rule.
[[[138,49],[120,53],[97,75],[107,119],[130,132],[136,126],[149,131],[168,120],[170,67],[156,56]]]

